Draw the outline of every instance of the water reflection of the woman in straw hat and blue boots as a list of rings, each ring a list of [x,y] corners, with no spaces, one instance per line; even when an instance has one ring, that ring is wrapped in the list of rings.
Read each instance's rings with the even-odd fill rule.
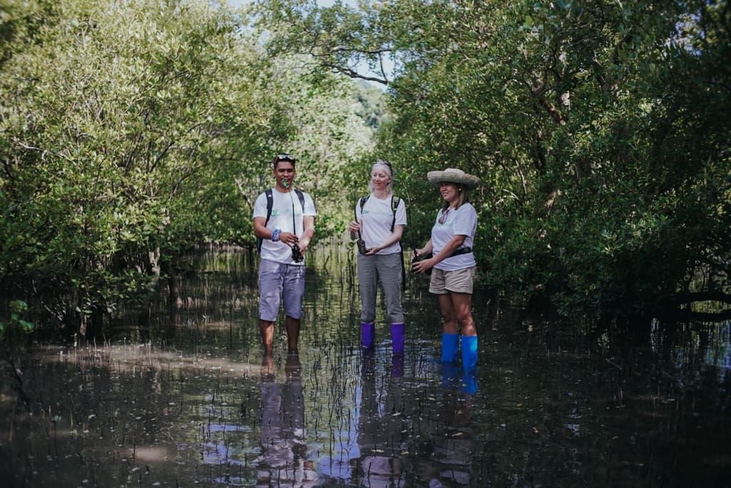
[[[477,391],[474,375],[460,371],[458,364],[442,369],[442,408],[425,422],[428,440],[412,450],[414,475],[429,487],[471,485],[472,429],[470,410]]]

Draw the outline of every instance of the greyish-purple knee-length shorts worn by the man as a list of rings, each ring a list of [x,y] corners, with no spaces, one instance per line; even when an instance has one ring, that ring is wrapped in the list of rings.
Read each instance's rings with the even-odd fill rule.
[[[305,294],[305,267],[262,259],[259,265],[259,318],[274,322],[279,315],[279,302],[284,301],[284,314],[302,318],[302,297]]]

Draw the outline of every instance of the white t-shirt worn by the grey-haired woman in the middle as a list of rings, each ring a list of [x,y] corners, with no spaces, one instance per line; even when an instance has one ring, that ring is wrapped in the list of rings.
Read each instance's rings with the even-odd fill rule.
[[[393,222],[393,209],[391,209],[391,198],[393,195],[388,195],[387,198],[376,198],[376,195],[371,193],[366,200],[366,204],[363,206],[363,211],[360,211],[360,198],[355,202],[355,217],[363,223],[363,230],[360,231],[360,237],[363,241],[366,241],[366,247],[375,247],[391,235],[391,224],[393,223],[394,228],[396,225],[406,226],[406,203],[403,198],[399,198],[398,206],[396,206],[396,221]],[[396,241],[389,247],[381,249],[376,254],[393,254],[394,252],[401,252],[401,244]]]

